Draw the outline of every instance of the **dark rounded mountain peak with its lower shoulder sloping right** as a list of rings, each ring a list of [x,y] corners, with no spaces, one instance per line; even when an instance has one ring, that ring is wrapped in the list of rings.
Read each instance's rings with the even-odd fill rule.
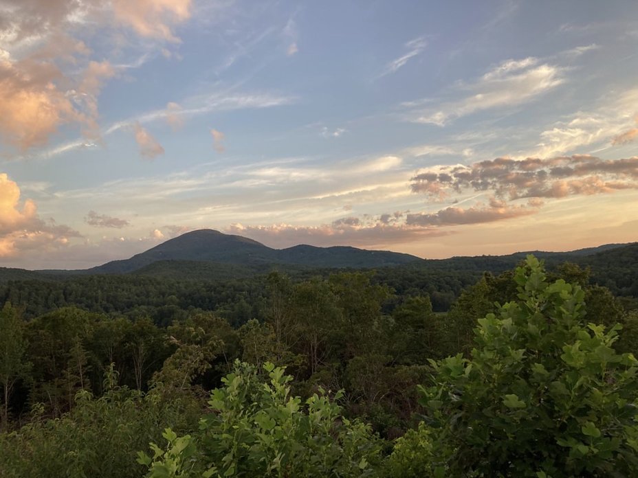
[[[196,261],[242,266],[294,264],[315,267],[374,268],[422,261],[415,255],[366,251],[355,247],[314,247],[300,245],[288,249],[272,249],[256,240],[223,234],[212,229],[191,231],[167,240],[153,249],[88,269],[86,273],[112,274],[138,271],[157,261]]]

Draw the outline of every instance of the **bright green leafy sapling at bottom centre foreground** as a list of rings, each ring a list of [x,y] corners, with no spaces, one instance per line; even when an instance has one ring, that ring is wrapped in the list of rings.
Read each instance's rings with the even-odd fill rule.
[[[348,420],[320,391],[306,400],[291,396],[282,368],[236,362],[212,391],[213,413],[200,432],[178,437],[164,433],[165,450],[140,453],[148,477],[374,477],[380,444],[369,427]],[[336,399],[340,394],[336,395]]]

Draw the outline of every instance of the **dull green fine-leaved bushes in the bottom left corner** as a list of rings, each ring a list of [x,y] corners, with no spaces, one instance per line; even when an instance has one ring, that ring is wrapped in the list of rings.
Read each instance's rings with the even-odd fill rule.
[[[76,402],[56,420],[46,420],[36,404],[29,424],[0,435],[0,476],[140,477],[144,467],[135,462],[135,450],[159,440],[167,425],[192,429],[199,409],[187,397],[168,402],[117,387],[97,399],[80,391]]]

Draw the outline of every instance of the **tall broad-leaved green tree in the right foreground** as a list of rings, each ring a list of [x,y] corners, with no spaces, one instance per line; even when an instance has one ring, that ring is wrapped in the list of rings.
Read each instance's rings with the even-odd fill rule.
[[[637,476],[638,361],[617,327],[585,323],[584,291],[528,256],[518,300],[478,320],[471,358],[421,387],[433,469],[452,476]],[[426,470],[423,470],[426,472]]]

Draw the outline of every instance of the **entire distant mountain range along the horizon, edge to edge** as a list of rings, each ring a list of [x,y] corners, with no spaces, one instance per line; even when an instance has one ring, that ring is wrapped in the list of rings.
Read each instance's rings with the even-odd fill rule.
[[[415,255],[391,251],[367,251],[355,247],[314,247],[298,245],[287,249],[273,249],[261,242],[242,236],[223,234],[212,229],[200,229],[182,234],[148,251],[125,260],[107,262],[91,269],[77,271],[27,271],[0,268],[0,281],[59,280],[63,277],[96,274],[135,274],[173,278],[245,277],[265,273],[274,266],[285,271],[309,269],[380,269],[388,266],[416,266],[439,271],[492,271],[511,269],[516,262],[533,253],[548,262],[571,261],[583,265],[589,262],[605,264],[605,255],[618,260],[625,249],[634,257],[638,243],[604,244],[599,247],[569,252],[529,251],[509,255],[481,255],[424,260]]]

